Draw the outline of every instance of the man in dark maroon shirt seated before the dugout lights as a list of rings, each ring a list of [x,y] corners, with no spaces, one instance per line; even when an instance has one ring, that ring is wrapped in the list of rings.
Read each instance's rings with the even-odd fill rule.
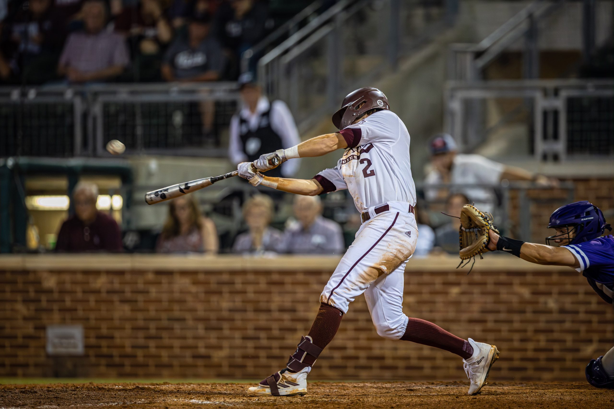
[[[72,193],[75,214],[69,217],[58,233],[56,251],[122,251],[122,233],[115,220],[98,212],[98,186],[79,182]]]

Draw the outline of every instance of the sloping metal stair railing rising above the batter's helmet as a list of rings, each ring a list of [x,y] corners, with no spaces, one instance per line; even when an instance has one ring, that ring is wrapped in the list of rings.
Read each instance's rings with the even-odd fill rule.
[[[286,101],[304,131],[348,91],[441,32],[456,0],[341,0],[258,61],[266,94]]]

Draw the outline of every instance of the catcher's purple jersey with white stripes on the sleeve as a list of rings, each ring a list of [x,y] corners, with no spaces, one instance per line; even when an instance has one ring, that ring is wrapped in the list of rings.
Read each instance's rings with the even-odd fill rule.
[[[607,235],[580,244],[563,246],[580,262],[576,270],[606,302],[612,302],[614,290],[614,236]]]

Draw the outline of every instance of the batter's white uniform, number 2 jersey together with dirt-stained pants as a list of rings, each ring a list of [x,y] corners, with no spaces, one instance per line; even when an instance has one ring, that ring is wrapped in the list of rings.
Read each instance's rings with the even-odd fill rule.
[[[348,189],[359,212],[389,204],[389,211],[371,215],[328,280],[320,301],[348,312],[364,293],[379,335],[403,336],[403,273],[416,249],[418,227],[408,205],[416,204],[411,177],[410,134],[395,113],[382,110],[340,131],[348,149],[337,166],[314,178],[324,192]]]

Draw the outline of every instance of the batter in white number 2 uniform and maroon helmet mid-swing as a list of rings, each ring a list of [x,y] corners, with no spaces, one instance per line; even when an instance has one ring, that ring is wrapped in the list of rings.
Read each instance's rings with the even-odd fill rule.
[[[435,346],[463,358],[469,394],[480,391],[499,357],[494,345],[464,340],[435,324],[403,313],[403,272],[416,248],[416,190],[411,177],[410,134],[376,88],[360,88],[345,97],[333,115],[340,129],[299,145],[239,164],[239,175],[254,186],[316,195],[348,189],[362,215],[356,239],[344,254],[320,296],[321,306],[309,334],[301,337],[286,367],[257,386],[252,396],[304,395],[307,375],[335,336],[349,304],[365,293],[379,335]],[[271,162],[322,156],[343,148],[336,167],[311,180],[266,177]],[[274,160],[277,159],[277,160]]]

